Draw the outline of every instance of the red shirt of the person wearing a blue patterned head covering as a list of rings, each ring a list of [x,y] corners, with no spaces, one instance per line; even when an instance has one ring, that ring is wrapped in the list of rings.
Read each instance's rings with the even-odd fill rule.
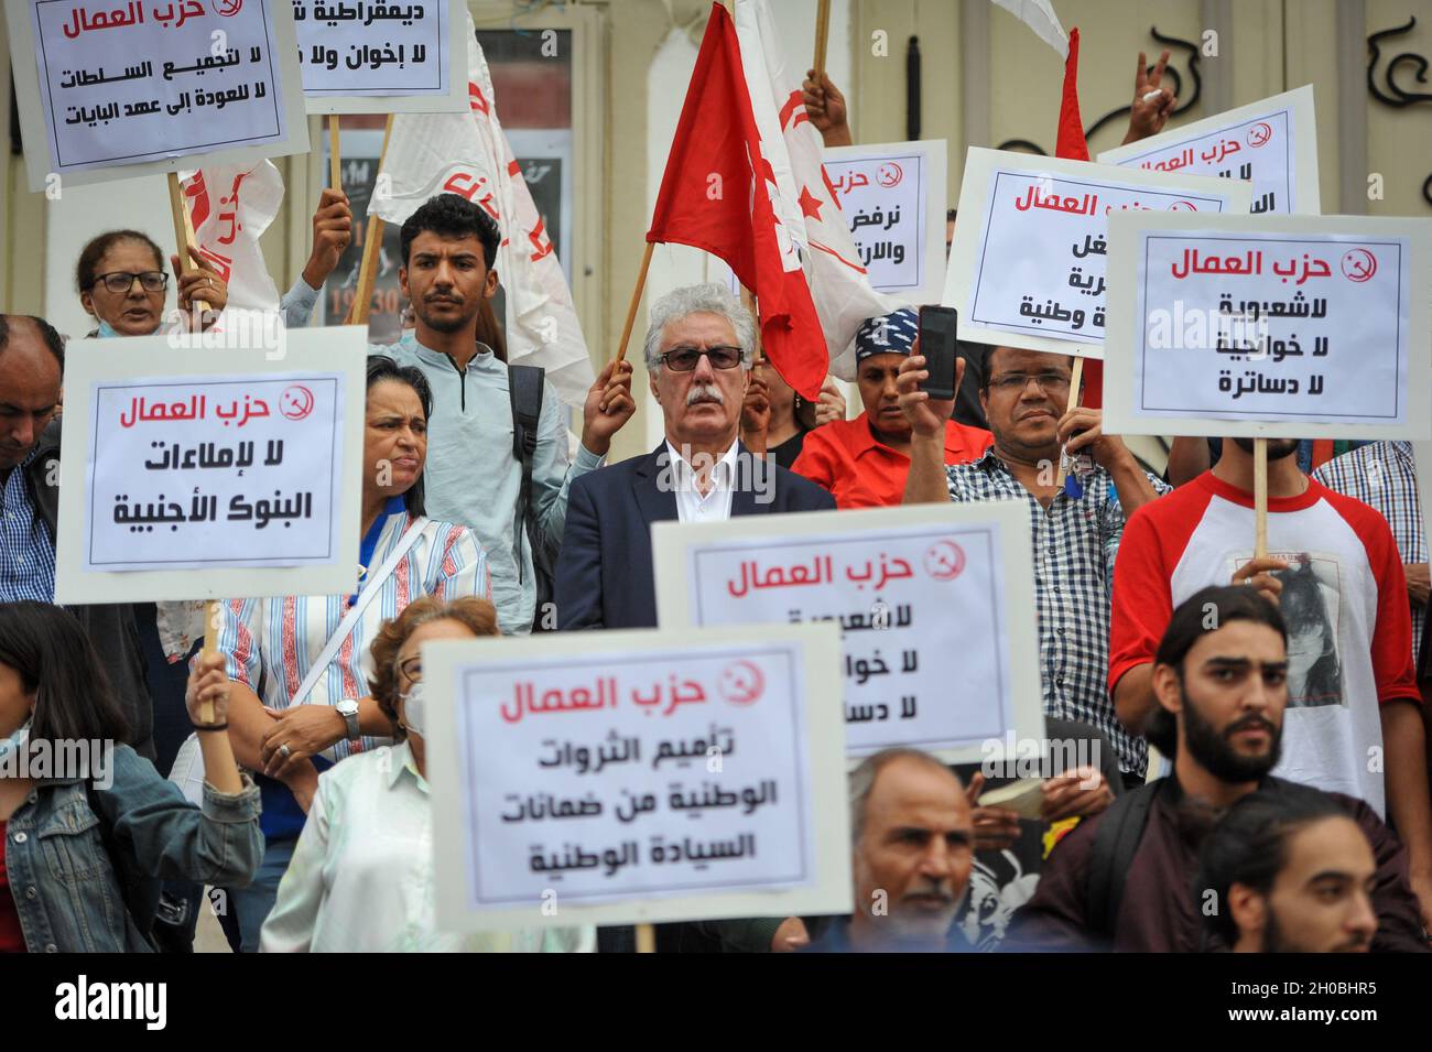
[[[945,422],[945,464],[975,461],[992,444],[982,428]],[[876,441],[862,412],[808,434],[790,469],[835,494],[838,508],[889,508],[905,495],[909,457]]]

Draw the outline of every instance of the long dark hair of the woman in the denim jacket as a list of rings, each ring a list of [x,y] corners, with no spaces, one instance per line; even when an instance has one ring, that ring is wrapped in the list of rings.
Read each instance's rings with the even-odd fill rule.
[[[83,625],[52,603],[0,603],[0,664],[34,693],[32,741],[129,741],[129,721],[115,700],[105,664]]]

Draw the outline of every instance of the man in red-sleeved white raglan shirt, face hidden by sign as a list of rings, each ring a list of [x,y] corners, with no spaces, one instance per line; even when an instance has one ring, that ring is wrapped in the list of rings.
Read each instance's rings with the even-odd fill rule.
[[[1153,660],[1173,608],[1209,584],[1264,591],[1289,634],[1274,774],[1390,814],[1432,927],[1432,800],[1398,545],[1373,508],[1299,469],[1296,441],[1267,445],[1269,558],[1253,558],[1249,438],[1224,439],[1211,471],[1128,520],[1114,564],[1110,694],[1130,731],[1143,733],[1158,704]]]

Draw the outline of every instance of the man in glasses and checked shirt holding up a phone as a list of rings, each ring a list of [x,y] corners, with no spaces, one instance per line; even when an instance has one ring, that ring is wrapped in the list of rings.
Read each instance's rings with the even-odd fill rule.
[[[925,359],[906,359],[898,385],[914,437],[904,502],[1028,504],[1044,711],[1098,727],[1118,753],[1126,780],[1141,781],[1144,741],[1124,730],[1107,691],[1110,585],[1126,520],[1169,487],[1138,467],[1123,439],[1104,434],[1098,409],[1067,409],[1071,374],[1065,355],[990,348],[979,402],[994,447],[972,464],[945,467],[951,402],[919,391]],[[1071,472],[1063,490],[1061,448],[1094,459],[1093,471]]]

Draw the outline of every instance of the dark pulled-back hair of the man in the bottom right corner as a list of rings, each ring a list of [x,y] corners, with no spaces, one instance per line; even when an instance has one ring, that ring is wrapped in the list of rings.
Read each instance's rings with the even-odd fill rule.
[[[1296,833],[1326,819],[1350,819],[1336,800],[1307,786],[1280,786],[1243,797],[1209,834],[1193,880],[1194,906],[1209,933],[1232,948],[1239,926],[1229,909],[1229,890],[1243,885],[1259,895],[1273,890],[1287,866],[1287,844]],[[1213,909],[1206,903],[1213,892]]]

